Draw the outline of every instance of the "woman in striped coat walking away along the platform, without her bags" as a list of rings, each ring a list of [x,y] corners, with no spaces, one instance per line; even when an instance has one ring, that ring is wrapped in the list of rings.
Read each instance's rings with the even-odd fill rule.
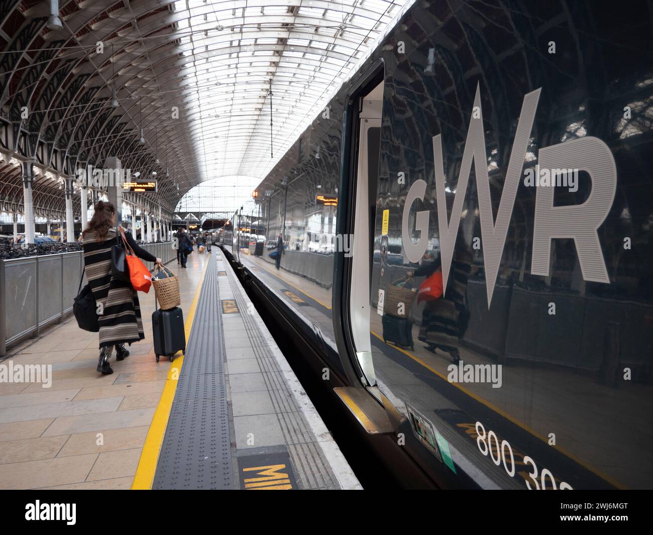
[[[115,225],[114,205],[98,201],[95,214],[84,229],[84,270],[99,312],[100,357],[97,371],[103,375],[114,372],[109,365],[114,347],[116,360],[122,361],[129,356],[125,344],[131,345],[145,337],[136,290],[129,280],[118,280],[111,273],[111,248],[121,240]],[[131,233],[125,233],[125,238],[138,257],[161,263],[160,258],[140,248]]]

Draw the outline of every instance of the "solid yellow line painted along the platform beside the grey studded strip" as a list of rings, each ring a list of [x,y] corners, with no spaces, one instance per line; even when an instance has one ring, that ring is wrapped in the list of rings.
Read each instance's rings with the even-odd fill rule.
[[[186,344],[188,344],[191,328],[193,327],[193,319],[195,319],[195,311],[197,310],[197,301],[200,297],[204,277],[206,276],[206,268],[213,257],[209,257],[209,261],[204,264],[200,282],[195,289],[195,295],[191,302],[191,308],[186,316],[186,321],[183,324],[183,330],[186,335]],[[163,437],[165,430],[168,427],[168,417],[170,417],[170,409],[172,408],[172,400],[174,400],[174,393],[177,391],[177,383],[179,376],[182,372],[183,354],[181,357],[176,357],[170,368],[168,369],[168,376],[163,386],[163,392],[157,405],[157,410],[150,423],[148,436],[145,439],[145,444],[140,452],[140,460],[138,461],[138,468],[136,468],[136,475],[131,484],[134,491],[149,491],[152,488],[154,481],[154,474],[157,470],[157,461],[159,461],[159,453],[161,452],[161,445],[163,444]]]

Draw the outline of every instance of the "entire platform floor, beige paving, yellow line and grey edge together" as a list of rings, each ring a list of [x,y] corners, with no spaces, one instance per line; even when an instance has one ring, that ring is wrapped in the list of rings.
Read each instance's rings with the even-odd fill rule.
[[[13,349],[52,385],[0,384],[3,489],[355,489],[360,485],[221,251],[180,276],[187,350],[146,338],[101,376],[72,317]]]

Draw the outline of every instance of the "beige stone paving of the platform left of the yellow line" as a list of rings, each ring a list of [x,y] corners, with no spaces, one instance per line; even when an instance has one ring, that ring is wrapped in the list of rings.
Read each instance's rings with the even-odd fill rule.
[[[190,255],[180,276],[182,308],[191,309],[207,258]],[[168,376],[155,362],[151,315],[154,293],[138,294],[145,339],[97,373],[97,333],[69,316],[39,338],[12,348],[7,364],[52,365],[52,385],[0,383],[0,487],[3,489],[129,489]]]

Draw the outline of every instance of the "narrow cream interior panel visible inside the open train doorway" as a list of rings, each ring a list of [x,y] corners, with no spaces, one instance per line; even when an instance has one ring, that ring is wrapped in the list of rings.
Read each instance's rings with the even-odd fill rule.
[[[372,285],[376,187],[381,151],[382,104],[383,82],[362,97],[359,105],[356,196],[351,246],[353,262],[349,287],[349,314],[353,344],[364,380],[370,386],[376,384],[370,340],[370,288]]]

